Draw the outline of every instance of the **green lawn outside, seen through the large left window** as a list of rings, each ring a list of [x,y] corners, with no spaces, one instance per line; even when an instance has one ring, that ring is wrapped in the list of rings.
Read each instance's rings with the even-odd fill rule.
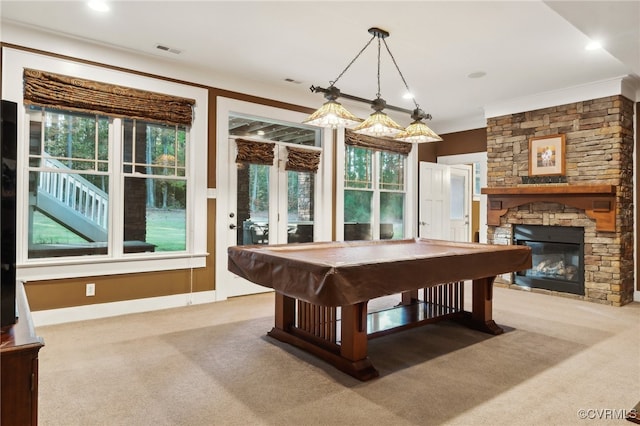
[[[186,248],[184,210],[147,210],[147,241],[156,251],[183,251]],[[35,244],[78,244],[87,242],[40,212],[33,215]]]

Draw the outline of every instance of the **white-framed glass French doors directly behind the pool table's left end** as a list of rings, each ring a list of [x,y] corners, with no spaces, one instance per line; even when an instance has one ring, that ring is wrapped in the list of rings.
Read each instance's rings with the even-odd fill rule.
[[[271,291],[228,271],[228,247],[313,241],[326,233],[318,229],[318,223],[330,215],[324,211],[322,200],[315,199],[315,194],[324,192],[320,186],[324,183],[318,177],[320,171],[317,174],[286,171],[286,146],[291,143],[268,139],[269,131],[279,130],[290,130],[281,133],[298,139],[301,134],[307,137],[308,132],[318,132],[318,137],[322,137],[319,130],[297,124],[305,117],[292,111],[218,99],[216,300]],[[254,122],[239,123],[247,118]],[[287,129],[282,129],[283,123]],[[243,139],[259,140],[258,133],[248,134],[258,128],[267,132],[260,141],[274,144],[275,158],[271,165],[236,163],[236,137],[232,127],[241,125],[242,129],[238,127],[240,130],[236,129],[235,133],[246,130],[247,136]]]

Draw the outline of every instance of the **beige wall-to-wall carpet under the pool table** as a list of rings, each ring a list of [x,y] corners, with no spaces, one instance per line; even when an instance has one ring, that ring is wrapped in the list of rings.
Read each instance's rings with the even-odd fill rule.
[[[371,340],[369,382],[266,336],[271,293],[39,327],[39,423],[632,424],[611,417],[640,398],[639,303],[494,293],[503,335],[442,322]]]

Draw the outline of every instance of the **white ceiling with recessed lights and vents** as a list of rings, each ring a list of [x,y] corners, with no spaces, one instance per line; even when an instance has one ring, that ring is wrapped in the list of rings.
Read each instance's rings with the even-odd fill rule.
[[[309,87],[327,87],[379,27],[440,133],[483,127],[493,104],[640,75],[640,1],[112,1],[104,14],[81,1],[0,5],[4,23],[160,57],[214,82],[265,84],[310,107],[323,99]],[[604,49],[585,50],[591,39]],[[374,42],[336,86],[373,99],[376,54]],[[413,109],[384,46],[380,83],[389,104]]]

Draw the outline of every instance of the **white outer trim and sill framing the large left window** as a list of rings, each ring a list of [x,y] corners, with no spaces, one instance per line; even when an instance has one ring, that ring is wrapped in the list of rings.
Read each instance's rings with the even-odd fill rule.
[[[22,281],[88,277],[114,274],[128,274],[175,269],[191,269],[206,266],[207,233],[207,116],[208,91],[201,87],[156,79],[144,75],[127,73],[120,70],[87,65],[44,56],[41,54],[3,49],[3,98],[18,104],[18,141],[29,137],[29,119],[23,103],[22,73],[24,68],[35,68],[43,71],[73,75],[79,78],[92,79],[139,88],[142,90],[166,93],[180,97],[193,98],[194,119],[190,127],[190,146],[187,153],[189,184],[187,199],[190,200],[187,212],[187,249],[184,252],[127,253],[124,255],[80,256],[64,258],[28,259],[28,167],[20,167],[18,172],[18,196],[16,223],[17,258],[16,278]],[[119,146],[120,136],[114,135],[110,149]],[[112,152],[120,155],[120,148]],[[117,152],[116,152],[117,151]],[[18,143],[18,161],[28,161],[28,144]],[[114,187],[122,190],[123,178],[112,182]],[[114,195],[115,196],[115,195]],[[118,233],[122,230],[122,215],[110,209],[110,229]],[[199,230],[199,232],[196,232]],[[110,242],[114,244],[114,242]],[[113,253],[113,248],[111,253]],[[168,261],[170,260],[170,261]]]

